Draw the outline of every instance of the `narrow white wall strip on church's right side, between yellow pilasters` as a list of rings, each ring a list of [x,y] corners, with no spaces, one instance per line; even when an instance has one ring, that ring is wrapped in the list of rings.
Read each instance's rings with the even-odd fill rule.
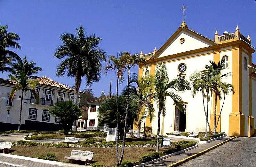
[[[245,52],[242,52],[242,61],[243,61],[243,113],[244,113],[244,135],[248,136],[248,115],[249,115],[249,70],[246,68],[244,70],[244,57],[247,59],[247,65],[249,62],[249,57]]]

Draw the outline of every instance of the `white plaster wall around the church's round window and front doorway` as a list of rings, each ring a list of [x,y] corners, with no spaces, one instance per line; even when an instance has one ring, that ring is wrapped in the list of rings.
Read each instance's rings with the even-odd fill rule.
[[[184,60],[178,60],[166,63],[168,69],[169,80],[172,80],[177,77],[180,73],[178,72],[178,65],[180,63],[185,63],[187,65],[187,70],[184,72],[186,74],[185,79],[189,80],[190,75],[195,71],[203,71],[205,64],[209,64],[209,60],[213,60],[213,54],[193,57]],[[200,62],[200,63],[198,63]],[[186,115],[186,131],[187,132],[203,132],[205,131],[205,114],[202,102],[201,93],[192,97],[192,90],[186,90],[184,92],[176,92],[187,104],[187,115]],[[164,118],[164,131],[163,133],[170,133],[174,131],[174,105],[170,97],[167,97],[166,102],[166,116]],[[206,101],[205,101],[206,106]],[[156,117],[153,120],[152,133],[156,134],[157,132],[157,116],[158,108],[155,103]],[[212,110],[212,99],[209,102],[209,111],[208,119],[210,120],[210,113]],[[163,117],[161,115],[161,126],[160,133],[162,130]],[[171,127],[172,125],[172,127]]]

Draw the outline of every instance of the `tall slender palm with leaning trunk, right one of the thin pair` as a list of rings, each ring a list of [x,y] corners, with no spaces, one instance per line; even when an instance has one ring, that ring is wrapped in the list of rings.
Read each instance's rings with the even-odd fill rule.
[[[127,69],[127,88],[128,93],[126,95],[126,111],[125,111],[125,122],[124,122],[124,138],[123,138],[123,145],[122,145],[122,151],[121,151],[121,157],[119,164],[122,163],[123,157],[124,157],[124,146],[125,146],[125,138],[126,138],[126,130],[127,130],[127,116],[128,116],[128,106],[129,106],[129,78],[130,78],[130,69],[134,67],[137,63],[141,62],[146,64],[146,59],[143,57],[140,57],[140,54],[135,53],[131,54],[129,52],[121,52],[120,57],[123,57],[125,62],[125,67]]]

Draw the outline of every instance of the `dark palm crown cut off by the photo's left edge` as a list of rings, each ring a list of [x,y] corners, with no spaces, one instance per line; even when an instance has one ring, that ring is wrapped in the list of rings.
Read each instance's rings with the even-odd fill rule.
[[[20,44],[16,41],[20,40],[19,35],[7,32],[8,26],[0,26],[0,71],[9,72],[9,68],[6,65],[10,65],[13,60],[19,60],[20,57],[12,50],[7,50],[7,48],[20,49]]]

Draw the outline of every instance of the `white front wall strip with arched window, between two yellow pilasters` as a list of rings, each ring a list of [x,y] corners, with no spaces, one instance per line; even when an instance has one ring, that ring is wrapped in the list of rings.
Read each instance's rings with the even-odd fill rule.
[[[229,48],[224,48],[229,49]],[[223,49],[220,49],[223,50]],[[231,75],[227,78],[223,78],[222,82],[227,82],[232,84],[232,51],[222,51],[220,52],[220,60],[222,60],[222,57],[228,56],[228,68],[224,68],[221,73],[227,74],[231,72]],[[222,98],[220,100],[220,110],[223,104],[224,97],[222,95]],[[224,106],[221,112],[221,132],[225,132],[228,134],[228,128],[229,128],[229,114],[232,112],[232,93],[230,92],[228,96],[225,98]],[[218,120],[218,117],[216,118],[216,121]]]

